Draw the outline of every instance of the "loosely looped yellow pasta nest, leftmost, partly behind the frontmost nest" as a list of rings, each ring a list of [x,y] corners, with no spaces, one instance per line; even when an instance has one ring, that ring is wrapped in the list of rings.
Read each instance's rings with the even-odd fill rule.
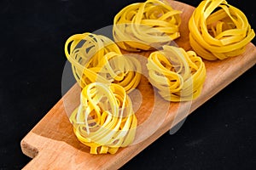
[[[81,88],[91,82],[114,82],[129,92],[140,82],[139,61],[121,54],[108,37],[92,33],[73,35],[67,39],[65,54]]]

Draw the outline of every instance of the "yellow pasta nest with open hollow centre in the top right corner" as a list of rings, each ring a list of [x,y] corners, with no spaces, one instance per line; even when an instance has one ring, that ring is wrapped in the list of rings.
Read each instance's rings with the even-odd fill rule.
[[[202,58],[226,59],[245,51],[255,33],[247,17],[224,0],[204,0],[189,20],[189,42]]]

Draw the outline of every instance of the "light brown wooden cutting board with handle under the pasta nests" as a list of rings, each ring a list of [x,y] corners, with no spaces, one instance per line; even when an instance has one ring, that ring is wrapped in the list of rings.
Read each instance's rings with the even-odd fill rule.
[[[191,47],[188,20],[195,8],[175,1],[170,3],[173,8],[183,11],[181,37],[177,39],[177,45],[189,50]],[[75,84],[21,140],[21,150],[32,158],[24,169],[117,169],[123,166],[207,99],[255,65],[256,48],[253,43],[249,43],[245,53],[240,56],[222,61],[204,61],[207,67],[207,79],[201,96],[193,102],[168,102],[166,105],[166,102],[154,94],[147,78],[143,77],[137,88],[142,97],[136,113],[139,127],[138,140],[136,144],[119,149],[115,155],[90,155],[90,148],[76,139],[73,125],[67,117],[67,112],[73,111],[79,105],[80,88]],[[155,101],[158,103],[156,104]],[[163,112],[164,115],[160,115],[160,118],[154,117],[152,114],[154,111]],[[143,138],[143,141],[139,140],[140,138]]]

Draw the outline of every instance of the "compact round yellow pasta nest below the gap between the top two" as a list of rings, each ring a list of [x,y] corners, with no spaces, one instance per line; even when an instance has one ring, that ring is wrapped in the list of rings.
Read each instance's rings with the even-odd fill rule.
[[[197,98],[206,78],[206,68],[194,51],[164,46],[148,57],[148,80],[168,101]]]

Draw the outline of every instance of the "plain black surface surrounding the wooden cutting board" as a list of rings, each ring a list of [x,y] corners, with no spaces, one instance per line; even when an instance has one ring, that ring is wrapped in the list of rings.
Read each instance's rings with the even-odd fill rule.
[[[67,37],[111,25],[121,8],[135,2],[0,1],[1,170],[30,161],[20,140],[61,99]],[[200,1],[182,2],[197,6]],[[254,9],[242,2],[229,1],[255,28]],[[255,80],[254,66],[194,111],[177,133],[165,133],[121,169],[253,169]]]

